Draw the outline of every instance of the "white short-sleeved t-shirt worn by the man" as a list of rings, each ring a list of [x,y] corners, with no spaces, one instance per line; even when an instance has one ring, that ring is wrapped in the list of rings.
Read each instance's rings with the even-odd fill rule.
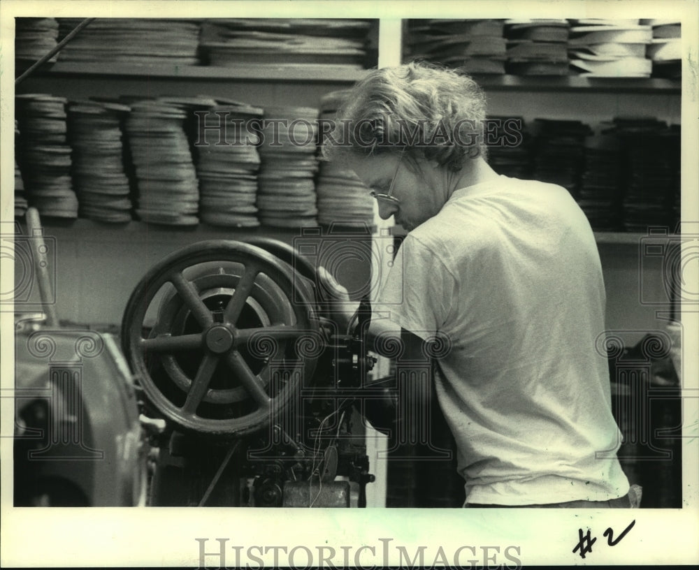
[[[455,191],[405,238],[377,309],[452,344],[435,388],[467,503],[628,492],[607,360],[596,349],[600,259],[568,191],[505,176]]]

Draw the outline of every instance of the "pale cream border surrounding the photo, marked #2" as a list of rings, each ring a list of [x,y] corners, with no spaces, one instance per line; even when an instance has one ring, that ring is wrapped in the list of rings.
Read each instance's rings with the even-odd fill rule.
[[[31,1],[2,0],[0,3],[0,91],[1,146],[13,146],[13,17],[51,15],[52,17],[129,16],[129,17],[682,17],[682,217],[699,220],[698,206],[698,22],[699,3],[695,0],[646,1],[442,1],[401,2],[262,2],[262,1]],[[3,221],[12,219],[13,153],[2,153],[1,212]],[[11,263],[3,261],[3,283],[12,283]],[[3,288],[3,291],[5,289]],[[697,291],[696,287],[692,291]],[[2,333],[1,370],[3,398],[1,430],[13,433],[13,317],[0,314]],[[685,387],[697,390],[699,369],[699,312],[683,307],[683,377]],[[7,392],[6,390],[10,390]],[[688,393],[688,395],[690,395]],[[699,399],[684,402],[684,425],[699,417]],[[696,425],[696,424],[695,424]],[[216,539],[228,539],[226,545],[295,546],[317,548],[336,546],[335,564],[343,564],[340,547],[361,547],[359,559],[350,559],[361,567],[373,564],[398,564],[398,550],[382,556],[382,541],[404,546],[407,553],[426,547],[426,564],[442,548],[445,553],[473,546],[477,558],[519,548],[521,564],[697,564],[696,537],[699,536],[699,439],[687,439],[683,448],[682,509],[613,509],[579,511],[575,509],[385,509],[371,513],[359,509],[347,511],[315,509],[226,509],[226,508],[31,508],[13,507],[12,438],[0,439],[1,518],[0,565],[2,567],[80,567],[146,566],[199,567],[200,542],[206,539],[207,552],[216,550]],[[605,529],[614,536],[635,521],[623,541],[607,547]],[[579,532],[590,529],[598,541],[585,560],[572,553]],[[484,554],[483,548],[486,548]],[[236,562],[236,550],[226,551],[226,564]],[[469,550],[470,552],[470,550]],[[257,554],[257,550],[254,551]],[[514,554],[514,550],[510,550]],[[273,562],[273,551],[262,554],[264,566]],[[298,563],[304,562],[302,554]],[[476,558],[474,557],[474,558]],[[206,562],[217,567],[216,557]],[[462,560],[466,560],[466,556]],[[243,562],[246,562],[243,560]],[[247,562],[256,567],[253,559]],[[498,563],[515,564],[498,559]],[[487,564],[487,562],[486,562]],[[515,564],[516,565],[516,564]]]

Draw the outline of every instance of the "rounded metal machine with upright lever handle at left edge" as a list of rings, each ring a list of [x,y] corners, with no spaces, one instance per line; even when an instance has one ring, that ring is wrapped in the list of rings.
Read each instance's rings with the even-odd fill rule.
[[[34,208],[27,228],[8,251],[44,310],[15,316],[14,504],[143,506],[148,445],[133,376],[112,335],[59,321],[55,251]]]

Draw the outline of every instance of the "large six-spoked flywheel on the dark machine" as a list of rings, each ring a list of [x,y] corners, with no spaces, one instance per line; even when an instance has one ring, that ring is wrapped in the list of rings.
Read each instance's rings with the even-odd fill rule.
[[[187,430],[269,425],[322,352],[315,300],[290,265],[216,240],[155,265],[131,294],[122,346],[150,402]]]

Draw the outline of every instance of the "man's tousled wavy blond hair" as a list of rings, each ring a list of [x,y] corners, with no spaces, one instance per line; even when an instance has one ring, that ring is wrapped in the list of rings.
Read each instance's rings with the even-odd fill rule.
[[[485,112],[485,95],[468,75],[416,61],[377,69],[338,108],[323,156],[398,152],[458,171],[466,159],[486,155]]]

